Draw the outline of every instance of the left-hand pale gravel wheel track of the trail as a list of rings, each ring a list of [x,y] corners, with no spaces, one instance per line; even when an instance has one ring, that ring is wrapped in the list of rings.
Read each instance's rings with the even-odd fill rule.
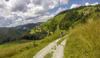
[[[53,48],[54,46],[56,46],[56,43],[60,40],[57,39],[54,42],[50,43],[49,45],[47,45],[45,48],[43,48],[42,50],[40,50],[33,58],[43,58],[48,52],[51,51],[51,48]]]

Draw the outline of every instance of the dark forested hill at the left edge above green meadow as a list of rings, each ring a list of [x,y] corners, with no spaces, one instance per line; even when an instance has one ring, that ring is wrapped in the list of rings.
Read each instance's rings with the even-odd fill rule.
[[[5,42],[19,40],[23,33],[11,28],[0,29],[0,44]]]

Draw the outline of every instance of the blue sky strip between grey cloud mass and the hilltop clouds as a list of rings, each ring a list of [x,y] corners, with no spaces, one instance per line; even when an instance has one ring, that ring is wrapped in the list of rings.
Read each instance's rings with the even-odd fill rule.
[[[59,7],[62,7],[62,8],[67,7],[67,9],[70,9],[70,7],[72,6],[72,4],[85,5],[85,3],[87,3],[87,2],[88,2],[89,4],[93,4],[93,3],[95,3],[95,2],[98,2],[98,4],[100,4],[100,0],[69,0],[68,4],[66,4],[66,5],[61,5],[61,6],[59,6]],[[53,12],[57,11],[57,9],[58,9],[59,7],[56,7],[56,8],[54,8],[54,9],[52,9],[52,10],[49,10],[49,12],[53,13]]]

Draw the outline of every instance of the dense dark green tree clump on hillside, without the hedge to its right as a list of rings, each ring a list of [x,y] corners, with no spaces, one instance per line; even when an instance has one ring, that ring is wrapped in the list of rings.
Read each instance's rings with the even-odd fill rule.
[[[77,11],[71,11],[68,12],[64,19],[62,19],[62,21],[59,24],[60,29],[62,30],[69,30],[69,27],[76,21],[78,21],[79,19],[81,19],[83,17],[83,13],[78,14]]]

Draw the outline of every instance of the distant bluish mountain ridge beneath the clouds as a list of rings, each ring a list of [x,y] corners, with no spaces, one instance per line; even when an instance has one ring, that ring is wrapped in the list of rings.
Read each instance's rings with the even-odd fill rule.
[[[32,28],[34,28],[35,26],[39,25],[42,22],[38,22],[38,23],[29,23],[29,24],[25,24],[25,25],[19,25],[16,27],[11,27],[12,29],[21,31],[21,32],[26,32]]]

